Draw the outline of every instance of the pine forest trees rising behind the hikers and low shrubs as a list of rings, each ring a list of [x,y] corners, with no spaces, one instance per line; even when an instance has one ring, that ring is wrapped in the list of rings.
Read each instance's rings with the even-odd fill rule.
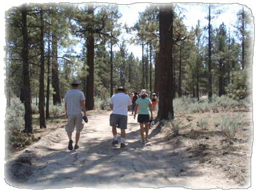
[[[191,27],[185,24],[189,5],[147,4],[133,26],[120,22],[117,4],[10,8],[5,11],[7,108],[15,97],[24,103],[25,130],[30,132],[31,102],[39,98],[40,127],[46,127],[49,102],[61,105],[73,79],[82,83],[88,110],[95,98],[109,99],[117,86],[128,93],[146,89],[149,97],[156,93],[165,105],[158,111],[160,119],[173,114],[172,102],[166,103],[174,97],[244,99],[252,89],[251,10],[239,5],[236,20],[216,26],[226,7],[196,4],[205,17],[198,15]],[[141,48],[140,58],[129,52],[131,45]]]

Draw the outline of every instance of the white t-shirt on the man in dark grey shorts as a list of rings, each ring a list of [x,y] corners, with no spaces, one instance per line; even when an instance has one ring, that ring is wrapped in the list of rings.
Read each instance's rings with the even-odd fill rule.
[[[113,105],[113,114],[127,116],[128,106],[132,105],[132,100],[125,93],[117,93],[111,97],[109,103]]]

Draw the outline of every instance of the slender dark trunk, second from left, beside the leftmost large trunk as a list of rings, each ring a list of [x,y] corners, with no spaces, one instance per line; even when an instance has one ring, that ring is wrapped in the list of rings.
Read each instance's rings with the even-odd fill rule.
[[[43,41],[44,25],[43,10],[40,6],[40,89],[39,89],[39,113],[40,128],[46,128],[45,124],[45,43]]]

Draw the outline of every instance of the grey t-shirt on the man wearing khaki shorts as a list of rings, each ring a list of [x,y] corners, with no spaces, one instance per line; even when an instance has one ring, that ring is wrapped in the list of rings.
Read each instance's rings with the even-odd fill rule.
[[[67,102],[67,115],[82,114],[80,100],[85,100],[85,95],[80,90],[71,89],[65,93],[64,102]]]

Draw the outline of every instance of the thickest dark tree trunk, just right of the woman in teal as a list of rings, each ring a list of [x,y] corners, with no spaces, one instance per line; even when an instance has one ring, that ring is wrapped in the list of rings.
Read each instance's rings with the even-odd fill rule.
[[[173,4],[160,6],[160,87],[158,119],[174,119],[173,111]]]

